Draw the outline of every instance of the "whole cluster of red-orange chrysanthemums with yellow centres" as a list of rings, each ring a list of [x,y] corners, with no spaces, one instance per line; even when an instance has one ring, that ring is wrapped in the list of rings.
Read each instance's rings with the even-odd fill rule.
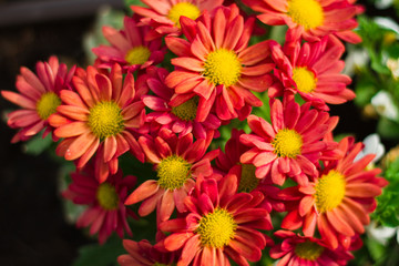
[[[340,73],[341,41],[360,41],[351,30],[362,8],[244,0],[255,17],[223,0],[142,2],[122,30],[103,28],[111,45],[93,49],[94,65],[68,70],[52,57],[35,73],[21,68],[19,93],[1,92],[22,108],[8,116],[19,129],[12,142],[43,129],[61,139],[57,154],[76,166],[63,196],[89,205],[76,224],[100,243],[132,235],[133,204],[142,202],[140,216],[156,212],[156,243],[124,239],[123,266],[248,265],[266,246],[279,266],[345,265],[387,185],[367,168],[375,155],[358,156],[361,143],[334,141],[338,117],[328,112],[355,98]],[[254,29],[262,33],[256,18],[288,25],[283,47],[248,44]],[[265,93],[270,117],[250,114]],[[250,132],[233,130],[224,149],[211,150],[233,119]],[[124,176],[119,157],[127,152],[157,178],[137,186]],[[275,213],[283,219],[273,226]]]

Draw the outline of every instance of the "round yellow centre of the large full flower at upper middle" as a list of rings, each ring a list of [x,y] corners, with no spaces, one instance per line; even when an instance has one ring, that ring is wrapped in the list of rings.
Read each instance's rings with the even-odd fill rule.
[[[203,75],[206,76],[212,84],[231,86],[238,81],[242,64],[234,51],[222,48],[208,53],[204,69]]]

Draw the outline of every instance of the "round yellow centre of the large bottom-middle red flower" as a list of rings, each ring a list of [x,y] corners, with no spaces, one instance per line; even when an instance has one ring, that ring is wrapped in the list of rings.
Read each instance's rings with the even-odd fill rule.
[[[200,234],[202,246],[221,248],[234,238],[236,227],[233,215],[217,207],[200,219],[196,233]]]

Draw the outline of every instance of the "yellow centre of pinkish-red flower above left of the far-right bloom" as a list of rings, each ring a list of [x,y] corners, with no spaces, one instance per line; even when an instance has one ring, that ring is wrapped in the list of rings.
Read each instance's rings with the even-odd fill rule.
[[[272,142],[274,153],[279,157],[296,158],[300,154],[303,140],[295,130],[279,130]]]

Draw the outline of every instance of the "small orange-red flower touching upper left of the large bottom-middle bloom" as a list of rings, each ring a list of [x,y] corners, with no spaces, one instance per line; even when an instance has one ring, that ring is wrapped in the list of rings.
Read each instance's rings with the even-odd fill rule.
[[[195,185],[195,178],[200,174],[208,176],[213,173],[211,161],[218,151],[206,153],[212,140],[213,132],[207,134],[206,140],[193,142],[193,134],[176,136],[167,129],[161,130],[156,137],[141,136],[139,143],[146,160],[154,164],[158,178],[141,184],[125,204],[144,201],[139,214],[146,216],[156,207],[158,222],[168,219],[175,207],[185,212],[183,201]]]

